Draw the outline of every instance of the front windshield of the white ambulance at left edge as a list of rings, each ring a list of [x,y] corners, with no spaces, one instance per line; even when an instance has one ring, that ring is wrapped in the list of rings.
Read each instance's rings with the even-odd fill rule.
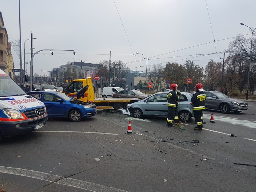
[[[9,76],[0,76],[0,97],[26,95]]]

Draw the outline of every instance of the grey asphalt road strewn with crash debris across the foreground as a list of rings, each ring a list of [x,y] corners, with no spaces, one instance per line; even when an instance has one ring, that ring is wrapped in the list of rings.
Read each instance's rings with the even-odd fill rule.
[[[256,164],[256,102],[248,104],[240,114],[204,111],[202,131],[194,118],[181,130],[115,110],[48,120],[0,143],[0,191],[255,191],[256,167],[240,165]],[[124,133],[129,120],[132,135]]]

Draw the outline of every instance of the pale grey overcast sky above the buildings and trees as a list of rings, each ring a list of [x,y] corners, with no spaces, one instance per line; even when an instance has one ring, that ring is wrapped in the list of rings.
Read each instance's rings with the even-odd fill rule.
[[[136,52],[150,58],[148,68],[187,59],[205,67],[210,60],[222,62],[232,37],[250,37],[250,29],[240,23],[255,27],[255,9],[256,0],[20,0],[22,55],[33,31],[34,52],[76,51],[75,56],[39,52],[33,59],[33,72],[39,75],[68,61],[109,60],[110,51],[112,61],[121,60],[131,70],[146,71],[145,56]],[[0,0],[0,11],[9,42],[18,40],[19,1]],[[30,45],[27,40],[25,53]],[[15,68],[20,68],[13,49],[12,55]],[[26,54],[28,63],[29,58]],[[30,74],[29,64],[27,70]]]

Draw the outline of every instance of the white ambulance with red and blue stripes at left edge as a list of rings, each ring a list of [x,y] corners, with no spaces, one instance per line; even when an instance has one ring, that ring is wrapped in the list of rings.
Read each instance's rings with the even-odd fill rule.
[[[44,104],[27,95],[0,69],[0,141],[3,137],[37,130],[47,120]]]

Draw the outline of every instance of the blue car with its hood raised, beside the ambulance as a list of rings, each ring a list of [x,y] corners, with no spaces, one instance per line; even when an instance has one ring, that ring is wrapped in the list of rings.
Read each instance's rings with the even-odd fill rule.
[[[88,85],[80,89],[73,97],[55,91],[31,91],[27,94],[44,103],[48,118],[68,117],[70,121],[78,122],[82,118],[97,114],[95,104],[78,100],[87,89]]]

